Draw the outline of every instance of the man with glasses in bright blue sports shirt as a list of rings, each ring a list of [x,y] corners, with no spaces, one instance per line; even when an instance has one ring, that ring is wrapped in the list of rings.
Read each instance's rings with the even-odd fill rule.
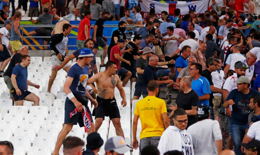
[[[209,105],[210,85],[207,78],[201,76],[202,65],[200,63],[192,63],[189,72],[192,78],[191,89],[198,94],[199,105]]]

